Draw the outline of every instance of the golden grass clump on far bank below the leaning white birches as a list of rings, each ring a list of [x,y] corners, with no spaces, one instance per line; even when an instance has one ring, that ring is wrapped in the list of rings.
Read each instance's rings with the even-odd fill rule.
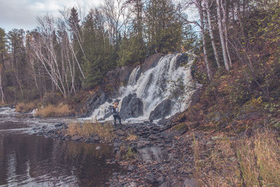
[[[72,111],[68,104],[59,104],[58,106],[49,104],[48,106],[36,110],[35,116],[61,117],[61,116],[68,116],[71,112]]]

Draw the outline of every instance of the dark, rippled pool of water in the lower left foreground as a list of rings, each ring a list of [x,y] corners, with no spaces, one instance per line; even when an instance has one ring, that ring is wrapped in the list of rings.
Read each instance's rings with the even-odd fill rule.
[[[0,186],[106,186],[112,157],[111,146],[0,134]]]

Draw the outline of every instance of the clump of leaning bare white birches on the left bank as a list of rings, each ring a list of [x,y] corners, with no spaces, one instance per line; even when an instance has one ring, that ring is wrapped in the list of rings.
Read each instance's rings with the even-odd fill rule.
[[[60,20],[57,23],[58,41],[54,41],[55,21],[53,18],[47,15],[38,18],[38,23],[40,25],[39,34],[36,39],[29,42],[31,50],[34,51],[36,59],[52,81],[53,88],[59,90],[64,97],[71,92],[75,93],[76,64],[82,75],[83,71],[73,50],[73,43],[70,41],[65,22]]]

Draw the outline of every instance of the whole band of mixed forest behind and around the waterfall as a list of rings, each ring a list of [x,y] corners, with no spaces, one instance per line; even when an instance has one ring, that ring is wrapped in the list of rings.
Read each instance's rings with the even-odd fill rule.
[[[279,97],[276,0],[106,0],[89,12],[60,13],[37,18],[31,31],[0,29],[2,103],[71,97],[97,88],[116,67],[190,50],[197,80],[226,83],[236,89],[231,100]]]

